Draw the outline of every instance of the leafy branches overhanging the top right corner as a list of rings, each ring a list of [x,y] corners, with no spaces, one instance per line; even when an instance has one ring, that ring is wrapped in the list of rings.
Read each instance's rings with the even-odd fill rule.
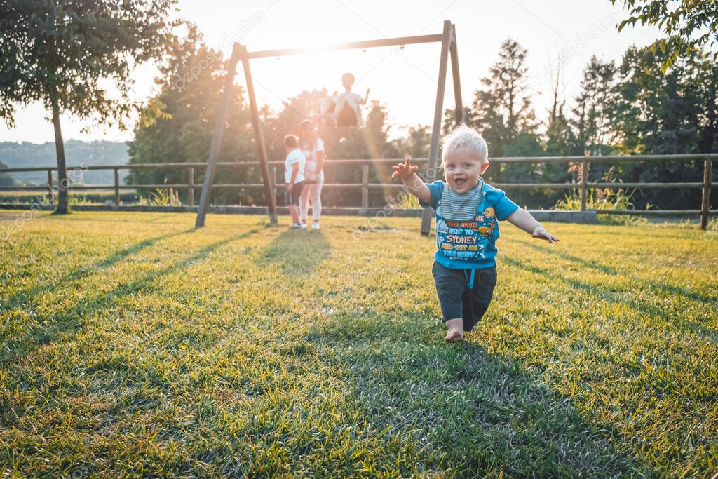
[[[615,4],[617,0],[611,0]],[[707,45],[718,45],[718,1],[666,1],[666,0],[623,0],[630,10],[630,17],[618,24],[620,32],[628,24],[658,26],[667,38],[657,39],[651,45],[655,54],[661,50],[663,60],[661,71],[672,68],[676,59],[686,57],[691,52],[703,49]],[[718,51],[713,60],[718,59]]]

